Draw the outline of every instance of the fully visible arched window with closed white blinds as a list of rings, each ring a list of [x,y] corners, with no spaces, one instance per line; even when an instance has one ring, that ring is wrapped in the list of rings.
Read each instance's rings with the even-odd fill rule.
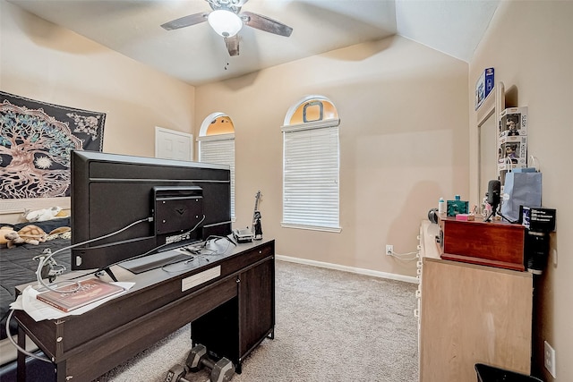
[[[338,111],[328,98],[292,106],[283,132],[282,226],[340,232]]]

